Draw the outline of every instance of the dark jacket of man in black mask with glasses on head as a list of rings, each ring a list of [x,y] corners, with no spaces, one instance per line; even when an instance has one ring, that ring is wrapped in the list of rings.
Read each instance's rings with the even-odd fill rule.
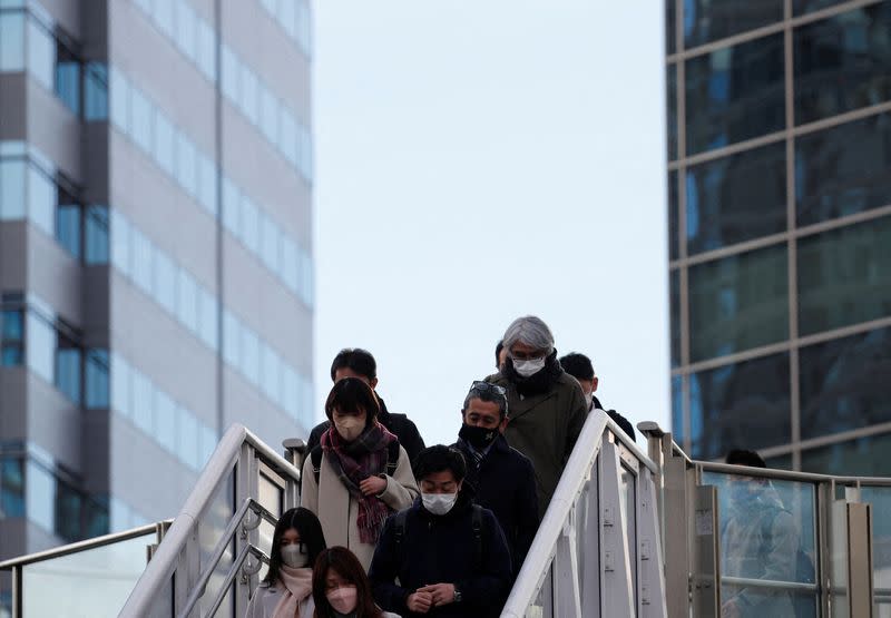
[[[503,435],[496,438],[479,469],[467,442],[459,440],[454,447],[464,453],[464,482],[473,488],[474,501],[492,511],[501,524],[516,578],[538,531],[538,497],[532,462],[512,449]]]

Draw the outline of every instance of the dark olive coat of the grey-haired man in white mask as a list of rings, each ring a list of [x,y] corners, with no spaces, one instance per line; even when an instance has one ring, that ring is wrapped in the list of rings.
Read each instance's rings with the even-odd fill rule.
[[[538,512],[544,517],[588,416],[585,394],[576,379],[562,370],[547,391],[522,399],[517,385],[501,373],[486,381],[507,389],[510,420],[505,438],[532,462]]]

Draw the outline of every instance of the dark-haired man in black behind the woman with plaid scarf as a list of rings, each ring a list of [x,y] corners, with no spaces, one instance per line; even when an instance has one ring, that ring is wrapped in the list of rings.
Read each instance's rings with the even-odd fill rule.
[[[371,386],[371,390],[374,391],[374,396],[378,399],[378,404],[380,405],[378,422],[386,428],[386,431],[399,438],[399,443],[402,444],[402,448],[409,453],[409,461],[414,461],[418,453],[423,450],[424,441],[411,419],[405,414],[395,414],[386,410],[386,404],[376,391],[378,363],[374,361],[374,356],[371,355],[371,352],[362,350],[361,347],[345,347],[341,350],[331,363],[331,381],[337,382],[344,377],[359,377]],[[322,421],[313,428],[306,443],[306,452],[312,452],[312,450],[319,445],[319,439],[327,431],[329,426],[331,426],[329,421]]]

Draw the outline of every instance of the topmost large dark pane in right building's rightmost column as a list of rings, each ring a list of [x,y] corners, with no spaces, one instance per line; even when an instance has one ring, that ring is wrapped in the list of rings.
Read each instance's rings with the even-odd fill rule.
[[[891,99],[891,3],[796,28],[795,122]]]

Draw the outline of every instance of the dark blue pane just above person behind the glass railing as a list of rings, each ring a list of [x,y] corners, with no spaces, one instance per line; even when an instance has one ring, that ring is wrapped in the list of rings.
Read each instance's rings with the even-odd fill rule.
[[[790,442],[789,392],[786,353],[691,374],[692,457]]]

